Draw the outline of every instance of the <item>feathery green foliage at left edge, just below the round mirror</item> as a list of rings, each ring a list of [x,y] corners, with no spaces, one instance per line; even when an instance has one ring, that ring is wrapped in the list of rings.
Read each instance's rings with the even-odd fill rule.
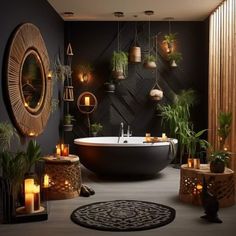
[[[18,138],[17,131],[8,122],[0,123],[0,151],[5,151],[11,145],[11,139],[15,136]]]

